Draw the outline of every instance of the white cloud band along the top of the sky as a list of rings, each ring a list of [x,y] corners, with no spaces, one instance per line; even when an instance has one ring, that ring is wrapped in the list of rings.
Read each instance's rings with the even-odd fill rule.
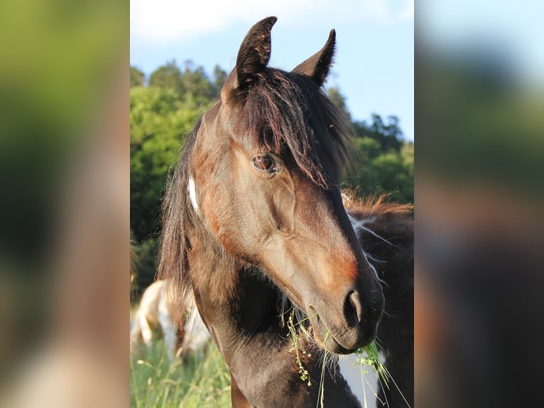
[[[236,23],[249,25],[266,16],[303,26],[315,21],[395,23],[413,18],[413,0],[394,15],[391,0],[131,0],[131,40],[156,45],[187,41]]]

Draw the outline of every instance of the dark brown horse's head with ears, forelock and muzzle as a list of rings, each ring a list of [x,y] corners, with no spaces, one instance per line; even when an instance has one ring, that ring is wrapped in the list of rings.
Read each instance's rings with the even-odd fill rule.
[[[383,294],[339,189],[349,122],[321,90],[335,33],[288,73],[267,66],[275,22],[251,28],[202,117],[190,205],[231,257],[309,316],[320,347],[352,353],[374,339]]]

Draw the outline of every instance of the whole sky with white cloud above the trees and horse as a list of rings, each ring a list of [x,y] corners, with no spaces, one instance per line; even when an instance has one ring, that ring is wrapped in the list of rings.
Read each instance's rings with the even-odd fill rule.
[[[273,3],[273,4],[271,4]],[[277,16],[270,65],[291,70],[337,31],[328,85],[354,119],[396,115],[414,139],[413,0],[131,0],[131,65],[147,75],[175,59],[229,72],[251,26]]]

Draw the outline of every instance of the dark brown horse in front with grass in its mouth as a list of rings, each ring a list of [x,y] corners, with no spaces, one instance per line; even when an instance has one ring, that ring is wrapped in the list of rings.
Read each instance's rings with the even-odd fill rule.
[[[335,31],[286,72],[268,67],[274,23],[265,18],[246,34],[220,99],[170,173],[159,277],[178,299],[194,296],[229,367],[233,407],[361,407],[337,355],[383,332],[386,361],[395,360],[385,337],[398,335],[403,311],[384,313],[384,304],[397,305],[383,294],[400,290],[388,289],[384,272],[398,247],[376,238],[380,231],[368,233],[372,222],[354,228],[359,213],[344,208],[340,178],[351,128],[322,90]],[[385,283],[366,245],[386,261]],[[407,377],[413,374],[401,367],[409,365],[409,343],[402,345],[408,357],[396,363]]]

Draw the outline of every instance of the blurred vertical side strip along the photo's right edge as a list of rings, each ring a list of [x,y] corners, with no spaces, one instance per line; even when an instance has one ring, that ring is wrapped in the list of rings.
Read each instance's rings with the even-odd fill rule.
[[[542,404],[543,13],[415,6],[418,407]]]

